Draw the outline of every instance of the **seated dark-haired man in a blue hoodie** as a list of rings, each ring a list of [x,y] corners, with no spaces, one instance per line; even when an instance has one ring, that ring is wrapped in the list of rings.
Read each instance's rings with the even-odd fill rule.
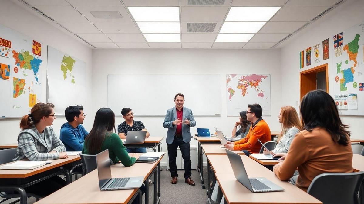
[[[67,123],[63,123],[59,139],[66,146],[66,151],[82,151],[83,142],[88,132],[81,125],[85,119],[83,106],[68,106],[64,111]]]

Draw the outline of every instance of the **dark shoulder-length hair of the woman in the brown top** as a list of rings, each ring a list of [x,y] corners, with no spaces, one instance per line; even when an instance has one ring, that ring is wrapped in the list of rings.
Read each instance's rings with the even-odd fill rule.
[[[344,125],[334,99],[323,90],[308,92],[301,101],[302,129],[312,131],[315,127],[325,128],[332,139],[348,145],[348,125]]]

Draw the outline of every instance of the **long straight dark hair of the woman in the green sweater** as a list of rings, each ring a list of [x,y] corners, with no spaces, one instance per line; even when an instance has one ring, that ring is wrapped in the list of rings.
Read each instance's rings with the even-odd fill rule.
[[[100,108],[95,115],[94,126],[85,139],[88,151],[91,154],[100,152],[107,132],[115,128],[115,114],[109,108]]]

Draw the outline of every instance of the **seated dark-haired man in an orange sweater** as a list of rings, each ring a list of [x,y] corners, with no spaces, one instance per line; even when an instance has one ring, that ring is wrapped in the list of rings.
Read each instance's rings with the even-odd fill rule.
[[[224,147],[228,150],[242,150],[246,155],[259,153],[262,145],[258,142],[258,139],[263,144],[270,141],[270,129],[263,120],[262,113],[263,109],[259,104],[249,104],[246,118],[252,123],[252,126],[250,126],[248,135],[236,142],[226,141]]]

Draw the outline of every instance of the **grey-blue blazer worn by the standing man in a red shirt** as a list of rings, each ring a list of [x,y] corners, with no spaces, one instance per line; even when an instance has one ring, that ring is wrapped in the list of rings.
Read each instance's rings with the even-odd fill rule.
[[[191,142],[190,127],[195,127],[196,121],[195,118],[193,117],[192,110],[187,109],[185,106],[183,106],[182,120],[185,118],[190,121],[190,125],[182,123],[183,142]],[[167,110],[166,118],[164,119],[163,122],[163,127],[168,128],[167,139],[166,139],[166,142],[168,144],[171,144],[173,142],[174,135],[176,133],[177,126],[172,124],[172,122],[175,121],[175,119],[177,119],[177,110],[176,107],[174,106],[173,108]]]

